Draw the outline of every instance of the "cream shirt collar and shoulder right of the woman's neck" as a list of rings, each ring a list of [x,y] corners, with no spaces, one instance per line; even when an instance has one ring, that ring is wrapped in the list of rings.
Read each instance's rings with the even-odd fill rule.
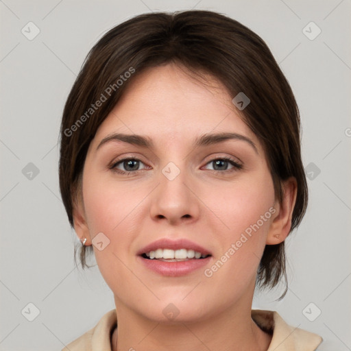
[[[322,343],[319,335],[290,326],[276,311],[252,310],[254,322],[272,334],[267,351],[314,351]]]

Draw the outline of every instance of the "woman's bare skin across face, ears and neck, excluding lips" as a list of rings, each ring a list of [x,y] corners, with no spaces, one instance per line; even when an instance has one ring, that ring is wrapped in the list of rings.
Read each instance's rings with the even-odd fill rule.
[[[90,143],[82,198],[73,217],[77,236],[86,237],[86,245],[99,232],[110,240],[104,250],[93,247],[114,293],[118,328],[112,350],[267,350],[271,342],[251,317],[256,271],[265,245],[278,244],[289,234],[296,182],[284,182],[284,199],[276,202],[263,145],[221,83],[206,78],[206,84],[199,82],[176,64],[144,71]],[[97,149],[112,132],[149,136],[154,148],[112,141]],[[218,132],[250,138],[257,152],[240,140],[192,146],[195,137]],[[108,168],[128,157],[141,162],[129,169],[121,162],[115,168],[126,173],[134,167],[134,173]],[[230,162],[215,168],[211,161],[223,157],[243,168]],[[169,162],[180,169],[174,180],[162,173]],[[271,207],[274,215],[206,277],[204,269]],[[210,263],[181,277],[160,276],[138,263],[136,252],[163,237],[185,237],[206,247]],[[169,304],[179,311],[173,321],[162,313]]]

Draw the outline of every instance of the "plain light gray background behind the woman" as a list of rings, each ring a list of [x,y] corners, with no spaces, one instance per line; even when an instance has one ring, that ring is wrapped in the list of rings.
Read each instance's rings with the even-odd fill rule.
[[[253,307],[322,335],[318,350],[351,350],[350,0],[0,1],[0,350],[61,350],[114,308],[98,268],[73,264],[77,239],[58,187],[62,108],[86,53],[110,27],[191,8],[228,14],[260,35],[302,116],[310,203],[287,239],[289,291],[280,302],[282,289],[256,293]],[[32,40],[29,21],[40,29]],[[311,21],[322,30],[313,40],[305,35],[317,34]],[[33,322],[29,303],[40,311]]]

